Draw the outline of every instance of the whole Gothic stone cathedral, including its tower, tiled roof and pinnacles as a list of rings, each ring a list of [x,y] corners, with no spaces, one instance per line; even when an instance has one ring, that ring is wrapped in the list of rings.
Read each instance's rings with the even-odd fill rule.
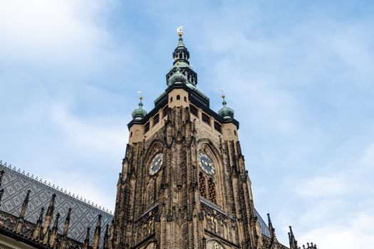
[[[299,248],[254,208],[234,110],[210,109],[178,31],[165,92],[132,112],[114,215],[0,161],[0,249]]]

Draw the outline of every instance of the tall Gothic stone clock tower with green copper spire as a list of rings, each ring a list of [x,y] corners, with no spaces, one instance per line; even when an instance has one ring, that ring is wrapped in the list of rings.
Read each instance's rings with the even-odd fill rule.
[[[197,88],[178,28],[167,88],[128,124],[110,248],[262,248],[234,110]]]

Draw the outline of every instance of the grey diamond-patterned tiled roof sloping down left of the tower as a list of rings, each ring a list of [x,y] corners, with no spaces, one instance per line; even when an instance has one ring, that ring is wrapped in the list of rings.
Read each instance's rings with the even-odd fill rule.
[[[71,208],[71,222],[68,231],[68,237],[83,242],[85,239],[86,229],[91,228],[90,238],[93,238],[92,228],[95,228],[98,215],[101,214],[102,234],[100,242],[103,243],[105,226],[109,225],[113,219],[113,215],[103,209],[93,206],[90,203],[82,201],[71,194],[63,192],[61,189],[53,188],[41,179],[33,178],[21,173],[20,170],[11,169],[10,166],[2,164],[0,161],[0,171],[4,170],[4,179],[2,188],[4,195],[1,199],[0,210],[10,213],[13,216],[19,216],[22,203],[28,190],[31,191],[30,199],[26,210],[26,221],[36,223],[42,207],[48,208],[52,194],[56,194],[56,205],[54,215],[60,213],[60,222],[58,224],[58,233],[63,232],[63,221],[68,214],[68,208]],[[53,215],[53,216],[54,216]],[[91,241],[92,242],[92,241]]]

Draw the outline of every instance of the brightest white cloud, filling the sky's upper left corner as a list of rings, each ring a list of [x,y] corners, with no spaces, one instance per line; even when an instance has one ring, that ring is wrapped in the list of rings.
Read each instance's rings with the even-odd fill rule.
[[[1,1],[0,63],[7,67],[25,63],[33,71],[37,67],[56,71],[61,66],[99,70],[103,62],[115,58],[109,51],[113,41],[101,21],[110,2]]]

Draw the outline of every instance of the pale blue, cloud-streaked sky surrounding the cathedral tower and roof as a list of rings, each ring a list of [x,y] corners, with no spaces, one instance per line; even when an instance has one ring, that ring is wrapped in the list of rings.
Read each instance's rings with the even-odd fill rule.
[[[0,159],[113,209],[126,124],[183,25],[240,122],[254,203],[288,244],[374,243],[372,1],[0,2]]]

